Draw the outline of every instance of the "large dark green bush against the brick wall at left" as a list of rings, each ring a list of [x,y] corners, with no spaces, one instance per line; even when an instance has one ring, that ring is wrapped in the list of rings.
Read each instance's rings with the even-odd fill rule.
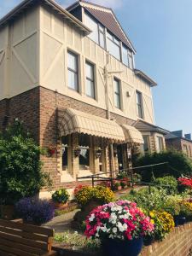
[[[41,149],[15,121],[0,135],[0,200],[15,203],[23,197],[36,195],[49,183],[42,171]]]

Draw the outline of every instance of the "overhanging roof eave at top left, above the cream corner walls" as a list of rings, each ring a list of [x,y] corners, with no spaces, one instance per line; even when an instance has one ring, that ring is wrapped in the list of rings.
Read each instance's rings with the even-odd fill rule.
[[[9,20],[15,19],[16,16],[20,15],[20,13],[25,10],[31,8],[35,4],[47,4],[49,7],[55,10],[59,15],[61,15],[64,19],[70,20],[71,23],[73,23],[73,26],[77,26],[82,32],[84,32],[85,35],[88,35],[91,31],[87,26],[84,26],[84,24],[75,18],[73,15],[71,15],[69,12],[67,12],[66,9],[63,9],[61,5],[55,3],[54,0],[24,0],[19,5],[15,7],[15,9],[12,9],[7,15],[5,15],[0,20],[0,27],[4,26],[9,22]]]

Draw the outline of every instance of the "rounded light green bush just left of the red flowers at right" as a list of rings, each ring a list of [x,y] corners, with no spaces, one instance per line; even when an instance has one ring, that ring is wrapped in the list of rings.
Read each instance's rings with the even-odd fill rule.
[[[177,194],[177,178],[172,176],[158,177],[154,180],[154,183],[162,186],[162,189],[167,191],[167,194]],[[163,187],[165,186],[165,187]],[[166,188],[166,186],[168,186]]]

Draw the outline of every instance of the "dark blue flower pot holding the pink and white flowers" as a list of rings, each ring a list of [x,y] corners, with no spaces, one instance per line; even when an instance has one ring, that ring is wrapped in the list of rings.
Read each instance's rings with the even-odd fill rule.
[[[105,256],[137,256],[142,247],[143,237],[126,241],[107,239],[102,242],[102,252]]]

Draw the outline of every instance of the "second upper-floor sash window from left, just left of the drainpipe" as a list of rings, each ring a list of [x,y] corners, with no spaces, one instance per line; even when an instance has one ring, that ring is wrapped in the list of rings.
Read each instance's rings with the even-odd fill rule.
[[[95,99],[94,65],[86,61],[86,95]]]

